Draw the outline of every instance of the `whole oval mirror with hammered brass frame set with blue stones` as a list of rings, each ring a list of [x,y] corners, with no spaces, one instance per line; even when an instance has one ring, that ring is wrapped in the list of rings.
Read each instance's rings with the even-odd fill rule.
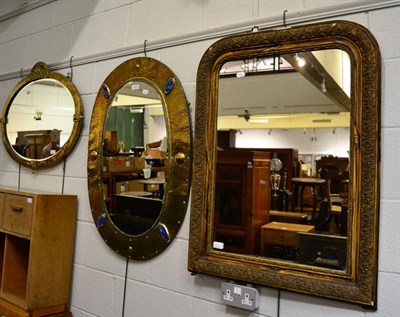
[[[183,87],[152,58],[133,58],[102,84],[92,112],[88,186],[104,241],[134,260],[160,254],[182,225],[191,135]]]

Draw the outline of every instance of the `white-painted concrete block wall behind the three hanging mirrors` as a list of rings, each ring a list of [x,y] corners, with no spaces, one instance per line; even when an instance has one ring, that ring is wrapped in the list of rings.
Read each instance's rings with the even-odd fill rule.
[[[2,0],[3,1],[3,0]],[[9,0],[5,0],[9,1]],[[0,75],[30,69],[37,61],[65,62],[103,51],[140,45],[202,30],[324,7],[329,12],[345,1],[327,0],[58,0],[0,22]],[[351,1],[347,1],[351,3]],[[360,2],[360,1],[357,1]],[[361,1],[362,2],[362,1]],[[366,4],[371,1],[364,1]],[[1,7],[0,7],[1,9]],[[1,12],[0,12],[1,16]],[[281,317],[383,317],[400,313],[400,6],[335,16],[368,27],[382,52],[382,182],[378,310],[282,291]],[[326,19],[330,19],[329,17]],[[148,52],[168,65],[183,83],[191,108],[202,54],[215,40],[197,41]],[[79,197],[70,308],[74,316],[121,316],[126,261],[103,242],[92,222],[86,179],[89,122],[97,91],[106,76],[136,54],[76,66],[73,81],[84,103],[85,126],[67,161],[65,193]],[[68,68],[60,72],[67,74]],[[0,103],[19,78],[0,82]],[[192,113],[194,119],[194,114]],[[60,192],[62,169],[32,174],[22,168],[23,189]],[[0,146],[0,185],[18,185],[18,165]],[[125,316],[278,316],[278,291],[261,289],[260,308],[249,313],[226,307],[220,300],[223,279],[196,275],[187,269],[190,208],[178,237],[158,257],[130,262]]]

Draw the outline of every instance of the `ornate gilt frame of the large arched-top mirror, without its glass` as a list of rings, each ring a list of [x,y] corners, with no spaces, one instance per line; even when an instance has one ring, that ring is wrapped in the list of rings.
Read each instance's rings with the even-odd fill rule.
[[[346,270],[214,250],[218,77],[230,60],[320,49],[346,51],[352,64],[350,205]],[[197,74],[188,270],[376,308],[380,183],[379,47],[358,24],[332,21],[235,35],[213,44]]]

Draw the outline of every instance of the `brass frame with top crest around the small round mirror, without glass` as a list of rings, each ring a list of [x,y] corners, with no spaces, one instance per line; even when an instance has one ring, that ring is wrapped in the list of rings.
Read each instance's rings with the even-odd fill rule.
[[[14,98],[21,91],[21,89],[23,89],[26,85],[40,79],[54,79],[59,83],[61,83],[64,87],[66,87],[70,92],[72,99],[74,101],[75,113],[73,118],[71,118],[71,120],[73,120],[73,128],[71,135],[69,136],[67,142],[65,142],[65,144],[62,146],[62,148],[58,150],[54,155],[51,155],[45,159],[30,159],[19,155],[12,148],[10,140],[8,140],[7,137],[7,120],[8,120],[7,115]],[[79,95],[78,89],[75,87],[72,81],[68,77],[65,77],[60,73],[50,71],[48,66],[44,62],[38,62],[35,64],[35,66],[33,66],[30,74],[24,77],[14,87],[14,89],[11,91],[6,100],[1,118],[2,140],[8,154],[18,164],[29,167],[33,171],[37,169],[49,168],[62,161],[73,150],[76,142],[78,141],[79,133],[82,129],[83,119],[84,115],[83,115],[83,104],[81,96]]]

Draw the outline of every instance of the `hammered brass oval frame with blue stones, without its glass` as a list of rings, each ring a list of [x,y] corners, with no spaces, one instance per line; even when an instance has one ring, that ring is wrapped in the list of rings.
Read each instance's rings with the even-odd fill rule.
[[[168,136],[168,170],[160,216],[143,234],[128,235],[110,219],[102,186],[103,139],[108,109],[115,94],[131,81],[144,81],[160,95]],[[186,214],[191,175],[191,132],[183,87],[166,65],[152,58],[133,58],[117,66],[105,79],[96,97],[90,122],[88,187],[96,227],[118,254],[133,260],[147,260],[160,254],[174,239]]]

